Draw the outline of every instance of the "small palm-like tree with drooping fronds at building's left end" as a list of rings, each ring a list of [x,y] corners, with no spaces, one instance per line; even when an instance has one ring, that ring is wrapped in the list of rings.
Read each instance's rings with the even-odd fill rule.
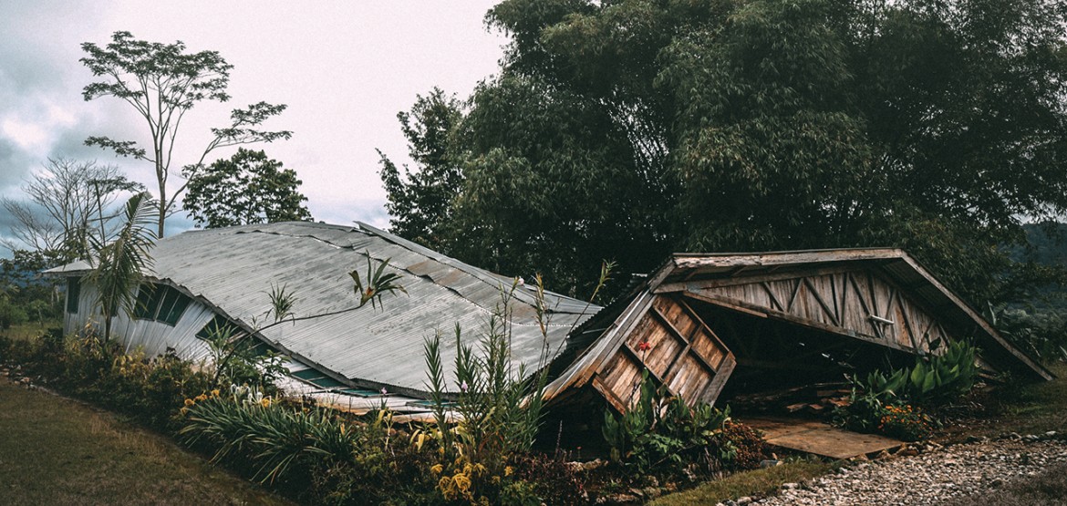
[[[137,290],[144,270],[152,267],[150,250],[156,237],[155,203],[147,192],[126,201],[123,223],[110,242],[90,237],[92,255],[87,281],[96,288],[96,306],[103,317],[103,341],[111,338],[111,322],[118,312],[130,319],[137,305]]]

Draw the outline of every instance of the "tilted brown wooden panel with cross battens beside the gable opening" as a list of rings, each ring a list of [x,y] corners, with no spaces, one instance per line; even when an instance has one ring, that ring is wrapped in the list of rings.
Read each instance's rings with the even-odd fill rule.
[[[656,296],[639,318],[593,378],[593,388],[625,411],[647,368],[671,395],[690,405],[714,402],[736,364],[730,349],[681,298]]]

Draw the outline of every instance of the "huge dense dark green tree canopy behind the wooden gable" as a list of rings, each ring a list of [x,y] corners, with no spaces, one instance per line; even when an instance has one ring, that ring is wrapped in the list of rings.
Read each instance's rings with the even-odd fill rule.
[[[447,136],[431,231],[485,267],[567,289],[601,258],[889,246],[985,301],[1033,274],[1003,248],[1022,222],[1067,210],[1063,2],[506,0],[487,21],[512,42]]]

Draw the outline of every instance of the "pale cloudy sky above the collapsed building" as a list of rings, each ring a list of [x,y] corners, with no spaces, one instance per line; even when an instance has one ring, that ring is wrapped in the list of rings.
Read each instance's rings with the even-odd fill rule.
[[[466,98],[497,70],[507,37],[483,21],[495,1],[0,0],[0,196],[21,197],[27,177],[57,157],[113,163],[155,188],[148,162],[83,145],[90,136],[147,139],[130,106],[81,95],[94,80],[78,61],[81,44],[105,46],[113,32],[128,31],[149,42],[181,41],[190,52],[216,50],[234,65],[233,98],[201,102],[187,114],[175,165],[195,161],[209,128],[226,126],[232,109],[286,104],[264,128],[292,130],[292,139],[249,147],[297,171],[316,220],[386,226],[376,149],[408,162],[397,113],[434,86]],[[184,214],[171,220],[169,234],[192,226]],[[0,234],[9,227],[0,209]]]

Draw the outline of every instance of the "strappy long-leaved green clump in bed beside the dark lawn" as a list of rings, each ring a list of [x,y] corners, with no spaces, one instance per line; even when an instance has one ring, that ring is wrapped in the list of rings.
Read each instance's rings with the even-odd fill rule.
[[[359,420],[236,385],[186,405],[179,431],[186,444],[213,452],[213,462],[252,471],[261,483],[309,492],[315,504],[423,502],[433,490],[414,449],[393,444],[398,439],[391,438],[386,411]]]

